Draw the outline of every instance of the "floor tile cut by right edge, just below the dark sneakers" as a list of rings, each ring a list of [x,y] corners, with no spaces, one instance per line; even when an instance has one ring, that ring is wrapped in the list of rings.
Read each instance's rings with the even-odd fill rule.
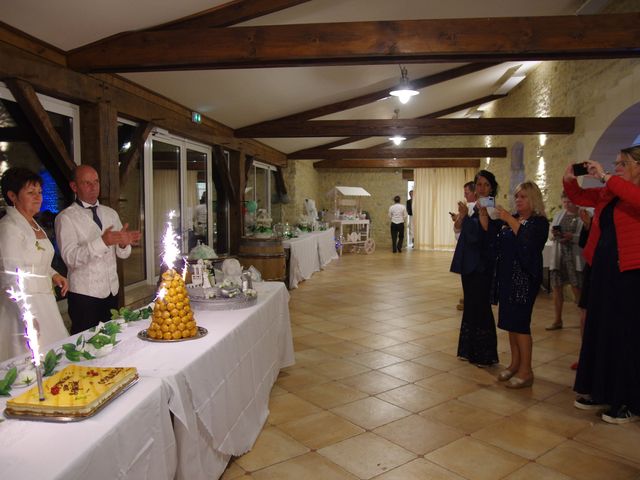
[[[596,423],[574,438],[600,450],[615,453],[640,465],[640,426]]]

